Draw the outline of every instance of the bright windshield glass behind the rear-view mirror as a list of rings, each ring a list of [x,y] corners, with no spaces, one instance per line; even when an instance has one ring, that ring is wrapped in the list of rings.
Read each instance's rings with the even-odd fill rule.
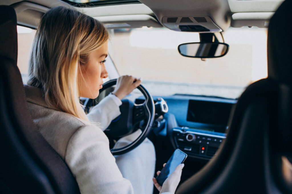
[[[142,77],[152,95],[207,95],[238,98],[267,77],[267,29],[229,28],[227,55],[202,61],[178,53],[178,45],[199,42],[198,33],[166,28],[109,30],[109,53],[120,75]]]

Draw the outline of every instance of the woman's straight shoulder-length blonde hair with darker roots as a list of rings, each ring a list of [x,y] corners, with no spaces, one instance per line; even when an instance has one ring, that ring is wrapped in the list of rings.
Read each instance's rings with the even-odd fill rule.
[[[49,106],[88,121],[79,101],[77,72],[108,38],[107,29],[92,17],[52,8],[36,31],[27,84],[41,88]]]

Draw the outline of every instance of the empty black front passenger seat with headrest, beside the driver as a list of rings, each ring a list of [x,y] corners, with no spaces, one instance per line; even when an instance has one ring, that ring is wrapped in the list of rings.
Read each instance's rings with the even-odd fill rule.
[[[176,193],[292,193],[291,10],[286,0],[270,20],[268,78],[245,90],[216,156]]]

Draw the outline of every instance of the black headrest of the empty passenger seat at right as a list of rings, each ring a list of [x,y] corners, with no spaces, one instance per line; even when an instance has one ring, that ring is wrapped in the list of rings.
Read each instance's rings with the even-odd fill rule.
[[[270,20],[268,29],[268,77],[292,84],[292,1],[286,0]]]

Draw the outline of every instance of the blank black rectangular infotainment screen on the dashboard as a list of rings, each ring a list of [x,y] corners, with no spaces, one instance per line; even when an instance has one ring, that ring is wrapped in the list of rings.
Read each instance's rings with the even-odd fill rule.
[[[189,100],[187,120],[227,126],[233,103]]]

